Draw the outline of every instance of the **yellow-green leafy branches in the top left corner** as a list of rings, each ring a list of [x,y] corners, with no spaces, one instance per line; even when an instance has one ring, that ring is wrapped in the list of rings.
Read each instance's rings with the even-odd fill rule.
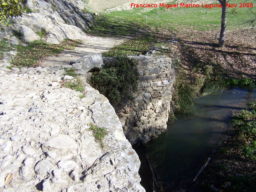
[[[21,0],[0,0],[0,27],[8,26],[8,17],[21,15],[22,11]]]

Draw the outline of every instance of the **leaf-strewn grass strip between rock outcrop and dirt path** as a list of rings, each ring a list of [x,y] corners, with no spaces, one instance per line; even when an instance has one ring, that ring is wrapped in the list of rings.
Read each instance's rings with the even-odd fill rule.
[[[64,49],[73,49],[79,40],[64,40],[60,44],[49,44],[43,41],[28,43],[28,46],[17,45],[17,54],[12,60],[12,64],[17,67],[35,67],[41,58],[56,55]]]

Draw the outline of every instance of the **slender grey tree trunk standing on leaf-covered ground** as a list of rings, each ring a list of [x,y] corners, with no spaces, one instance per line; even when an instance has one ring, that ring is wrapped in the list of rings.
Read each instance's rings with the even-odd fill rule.
[[[220,38],[219,47],[224,46],[226,26],[227,26],[227,0],[219,1],[221,4],[221,27],[220,27]]]

